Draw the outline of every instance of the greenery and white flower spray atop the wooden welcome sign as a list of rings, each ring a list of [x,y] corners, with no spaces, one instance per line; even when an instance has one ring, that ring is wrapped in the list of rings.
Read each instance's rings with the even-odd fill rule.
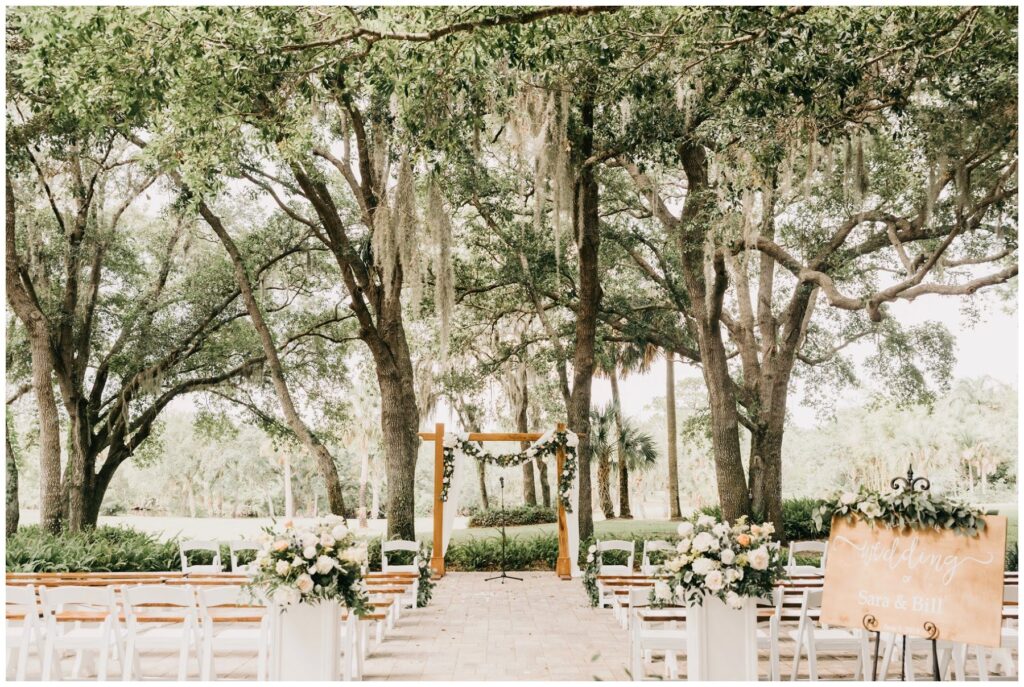
[[[930,490],[899,489],[883,493],[864,486],[841,491],[822,501],[814,511],[814,526],[824,529],[833,516],[864,520],[895,529],[952,529],[974,536],[985,528],[984,511],[945,499]]]

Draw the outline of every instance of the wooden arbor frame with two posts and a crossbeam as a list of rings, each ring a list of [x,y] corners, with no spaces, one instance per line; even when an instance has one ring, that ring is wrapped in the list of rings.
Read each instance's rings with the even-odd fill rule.
[[[564,432],[565,425],[558,423],[558,431]],[[539,432],[471,432],[470,441],[537,441],[543,434]],[[444,529],[444,502],[441,501],[441,480],[444,475],[444,423],[434,425],[433,432],[420,432],[424,441],[434,442],[434,541],[430,556],[430,567],[438,577],[444,575],[444,554],[441,542]],[[555,457],[555,500],[558,503],[558,561],[555,572],[562,579],[570,579],[572,566],[569,562],[569,530],[565,520],[565,507],[559,498],[558,480],[565,464],[565,448],[559,446]]]

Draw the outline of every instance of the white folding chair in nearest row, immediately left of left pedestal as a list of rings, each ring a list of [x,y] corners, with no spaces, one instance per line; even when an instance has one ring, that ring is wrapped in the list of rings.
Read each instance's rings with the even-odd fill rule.
[[[255,649],[256,679],[266,680],[270,635],[269,615],[263,612],[265,608],[247,603],[251,598],[239,586],[204,587],[198,594],[203,635],[202,679],[217,679],[214,657],[219,650],[251,652]],[[262,617],[253,624],[250,618],[256,614]]]

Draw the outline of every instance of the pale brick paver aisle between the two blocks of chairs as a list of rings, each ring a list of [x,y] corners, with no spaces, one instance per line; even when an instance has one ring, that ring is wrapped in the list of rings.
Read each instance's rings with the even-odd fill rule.
[[[591,608],[583,583],[553,572],[450,572],[426,608],[406,612],[367,680],[627,680],[626,631]]]

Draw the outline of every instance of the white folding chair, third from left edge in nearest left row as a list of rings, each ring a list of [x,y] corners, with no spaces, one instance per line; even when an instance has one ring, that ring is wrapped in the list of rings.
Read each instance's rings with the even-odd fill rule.
[[[124,680],[141,680],[139,653],[152,649],[178,651],[178,681],[188,677],[188,654],[200,661],[196,591],[189,586],[139,585],[126,587],[125,620],[128,630]]]

